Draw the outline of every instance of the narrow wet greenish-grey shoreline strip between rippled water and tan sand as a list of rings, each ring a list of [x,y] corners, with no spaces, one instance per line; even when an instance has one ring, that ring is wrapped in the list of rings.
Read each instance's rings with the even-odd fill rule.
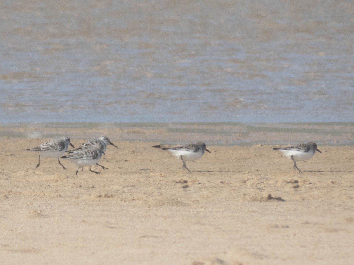
[[[12,123],[0,124],[0,137],[92,139],[216,146],[288,145],[316,142],[354,146],[354,122],[337,123]]]

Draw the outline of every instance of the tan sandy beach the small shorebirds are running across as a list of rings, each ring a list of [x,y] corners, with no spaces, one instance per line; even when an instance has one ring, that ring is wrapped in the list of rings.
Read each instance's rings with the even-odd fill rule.
[[[69,161],[0,138],[3,264],[350,264],[354,147],[292,161],[269,145],[208,146],[187,162],[119,141],[75,176]],[[85,139],[88,140],[88,139]],[[84,139],[72,139],[78,146]]]

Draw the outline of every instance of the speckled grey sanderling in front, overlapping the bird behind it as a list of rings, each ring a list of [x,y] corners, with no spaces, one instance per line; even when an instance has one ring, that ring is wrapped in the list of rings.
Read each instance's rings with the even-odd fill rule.
[[[78,166],[78,170],[76,170],[76,175],[78,175],[78,171],[80,167],[89,166],[91,172],[95,172],[96,174],[100,174],[101,172],[91,170],[91,166],[98,163],[101,159],[103,153],[103,145],[102,143],[97,142],[90,148],[80,149],[74,152],[70,152],[69,155],[63,155],[61,158],[68,159],[72,163]]]

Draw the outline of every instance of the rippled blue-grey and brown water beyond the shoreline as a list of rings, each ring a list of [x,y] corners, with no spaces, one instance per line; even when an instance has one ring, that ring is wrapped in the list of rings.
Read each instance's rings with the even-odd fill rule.
[[[348,122],[354,2],[1,1],[0,122]]]

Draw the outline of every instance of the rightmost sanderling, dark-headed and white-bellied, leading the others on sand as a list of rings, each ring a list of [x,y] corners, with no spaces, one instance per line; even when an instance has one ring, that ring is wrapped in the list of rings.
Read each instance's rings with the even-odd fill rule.
[[[306,144],[300,145],[292,145],[288,147],[281,147],[281,148],[273,148],[273,150],[279,150],[288,158],[291,158],[294,161],[294,167],[297,168],[299,172],[302,173],[301,170],[296,165],[296,161],[306,161],[313,157],[315,151],[321,153],[319,149],[317,149],[317,145],[313,142],[309,142]]]

